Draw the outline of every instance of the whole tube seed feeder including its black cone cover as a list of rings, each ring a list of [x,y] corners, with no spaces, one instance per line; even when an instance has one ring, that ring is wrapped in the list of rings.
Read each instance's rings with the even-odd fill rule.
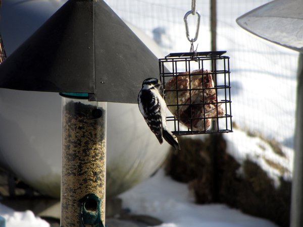
[[[137,103],[158,70],[102,0],[69,0],[0,65],[1,88],[62,96],[60,226],[104,226],[107,102]]]

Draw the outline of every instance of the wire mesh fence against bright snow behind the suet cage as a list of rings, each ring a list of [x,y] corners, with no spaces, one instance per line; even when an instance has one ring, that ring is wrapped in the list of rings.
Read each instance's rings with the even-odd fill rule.
[[[183,17],[191,9],[190,0],[106,2],[122,19],[153,38],[163,56],[189,51]],[[298,53],[251,35],[235,22],[237,17],[268,2],[218,0],[217,50],[227,50],[231,59],[233,122],[292,149]],[[201,13],[197,51],[211,50],[210,7],[210,1],[197,1],[196,10]],[[195,21],[188,23],[190,31],[194,31]]]

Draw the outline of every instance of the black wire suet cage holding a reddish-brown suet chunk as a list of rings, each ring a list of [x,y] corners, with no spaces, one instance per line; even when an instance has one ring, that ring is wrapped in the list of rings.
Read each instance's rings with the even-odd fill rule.
[[[232,132],[226,51],[170,53],[159,59],[163,96],[175,135]],[[209,69],[209,70],[207,70]]]

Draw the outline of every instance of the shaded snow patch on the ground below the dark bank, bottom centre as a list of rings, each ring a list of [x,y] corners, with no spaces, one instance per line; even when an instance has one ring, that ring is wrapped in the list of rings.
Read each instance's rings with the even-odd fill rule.
[[[164,223],[157,227],[277,227],[223,204],[195,204],[187,185],[171,180],[163,169],[119,197],[132,213],[161,219]]]

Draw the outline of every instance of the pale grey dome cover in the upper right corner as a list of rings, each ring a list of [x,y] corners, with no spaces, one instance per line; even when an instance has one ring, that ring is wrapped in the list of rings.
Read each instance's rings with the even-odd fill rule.
[[[303,0],[275,0],[236,21],[243,29],[276,44],[303,52]]]

